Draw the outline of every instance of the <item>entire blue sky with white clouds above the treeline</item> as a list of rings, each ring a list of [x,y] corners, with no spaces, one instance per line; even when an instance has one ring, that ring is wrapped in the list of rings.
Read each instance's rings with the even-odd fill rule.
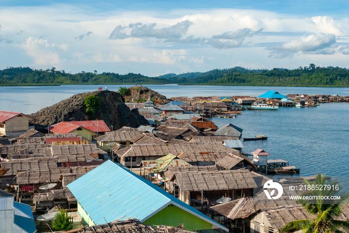
[[[349,68],[347,0],[0,0],[0,70]]]

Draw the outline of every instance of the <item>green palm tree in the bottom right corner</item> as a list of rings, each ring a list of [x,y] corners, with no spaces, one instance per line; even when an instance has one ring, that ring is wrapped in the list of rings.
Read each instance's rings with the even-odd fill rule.
[[[304,184],[307,186],[307,190],[311,189],[311,191],[301,196],[336,196],[340,191],[338,182],[328,182],[325,175],[322,176],[321,174],[316,176],[313,183],[310,180],[305,180]],[[303,187],[305,186],[303,185]],[[303,208],[315,216],[315,218],[290,222],[281,229],[280,233],[298,230],[303,230],[304,233],[341,233],[341,230],[349,232],[349,221],[336,220],[337,217],[341,216],[341,207],[345,200],[344,195],[341,195],[341,200],[325,200],[321,198],[316,200],[299,200]]]

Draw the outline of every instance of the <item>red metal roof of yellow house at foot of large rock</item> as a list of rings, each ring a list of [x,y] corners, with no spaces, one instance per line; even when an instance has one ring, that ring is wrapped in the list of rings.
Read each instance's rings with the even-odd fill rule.
[[[63,121],[51,125],[50,131],[55,133],[70,133],[71,131],[83,127],[92,132],[108,132],[110,129],[103,120],[82,120],[82,121]]]

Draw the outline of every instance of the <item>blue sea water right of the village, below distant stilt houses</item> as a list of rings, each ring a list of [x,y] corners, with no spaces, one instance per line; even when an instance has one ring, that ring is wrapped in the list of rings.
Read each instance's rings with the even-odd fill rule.
[[[270,154],[269,159],[284,159],[300,168],[301,176],[326,174],[349,191],[348,116],[349,103],[329,103],[313,108],[243,111],[235,118],[211,119],[218,127],[232,123],[242,128],[243,137],[268,137],[243,141],[242,151],[250,154],[261,148]]]

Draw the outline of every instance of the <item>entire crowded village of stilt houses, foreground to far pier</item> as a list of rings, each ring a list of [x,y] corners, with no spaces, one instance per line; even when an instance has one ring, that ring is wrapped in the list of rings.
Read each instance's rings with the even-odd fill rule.
[[[145,87],[129,91],[137,88]],[[1,110],[0,232],[52,232],[50,222],[61,209],[72,222],[69,233],[279,233],[290,222],[314,218],[290,200],[302,191],[289,186],[316,174],[274,177],[283,193],[269,199],[264,184],[274,174],[299,173],[296,164],[270,160],[263,148],[241,152],[242,140],[268,135],[244,138],[242,128],[218,128],[209,117],[316,107],[349,96],[147,95],[142,103],[125,98],[125,117],[138,112],[148,122],[138,127],[117,128],[97,118],[56,120],[38,131],[35,116]],[[348,221],[348,206],[338,219]]]

